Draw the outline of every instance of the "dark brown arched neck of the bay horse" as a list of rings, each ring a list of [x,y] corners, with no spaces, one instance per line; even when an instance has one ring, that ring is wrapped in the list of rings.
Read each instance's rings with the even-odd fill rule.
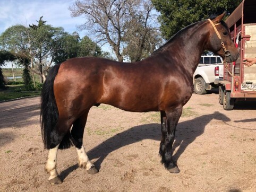
[[[185,72],[193,76],[206,48],[208,37],[207,21],[200,21],[178,32],[160,52],[167,54],[170,63],[182,65]]]

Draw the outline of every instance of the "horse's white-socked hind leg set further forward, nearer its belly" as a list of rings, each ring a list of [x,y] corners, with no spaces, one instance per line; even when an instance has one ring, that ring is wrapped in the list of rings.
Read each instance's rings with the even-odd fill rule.
[[[76,147],[76,151],[78,152],[79,167],[85,168],[89,174],[96,174],[99,171],[95,168],[95,165],[90,162],[86,154],[86,150],[83,146],[83,132],[84,127],[86,126],[88,112],[89,110],[85,112],[80,118],[75,120],[71,130],[71,135],[72,141]]]

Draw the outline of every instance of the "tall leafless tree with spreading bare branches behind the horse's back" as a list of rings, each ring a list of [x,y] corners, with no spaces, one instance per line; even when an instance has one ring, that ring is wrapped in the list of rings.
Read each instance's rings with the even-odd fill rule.
[[[145,8],[146,15],[144,14]],[[153,7],[149,0],[76,0],[69,10],[73,17],[86,16],[86,23],[80,28],[90,30],[93,36],[96,34],[98,42],[108,42],[120,62],[123,61],[125,54],[130,56],[127,53],[129,48],[125,53],[122,51],[129,45],[129,38],[135,37],[132,39],[134,42],[140,41],[133,49],[138,53],[135,60],[140,60],[143,55],[142,50],[146,46],[144,42],[150,40],[148,32],[156,30],[155,23],[153,23],[155,14],[153,14]],[[140,34],[132,34],[134,27]],[[139,28],[142,30],[138,30]]]

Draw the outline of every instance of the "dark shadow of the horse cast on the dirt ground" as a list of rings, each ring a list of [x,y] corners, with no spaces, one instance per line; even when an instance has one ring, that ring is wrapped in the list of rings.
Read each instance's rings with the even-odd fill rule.
[[[224,114],[216,111],[213,114],[203,115],[200,117],[196,117],[192,120],[178,123],[175,141],[173,144],[173,150],[178,147],[176,153],[173,155],[174,161],[177,161],[178,158],[180,158],[186,147],[189,146],[195,140],[195,138],[204,133],[204,128],[212,119],[217,119],[225,122],[231,120]],[[88,151],[87,155],[89,159],[97,159],[94,164],[100,170],[101,163],[103,163],[106,156],[109,153],[118,150],[123,146],[142,141],[143,139],[153,139],[155,141],[159,141],[160,144],[160,127],[160,124],[146,124],[132,127],[122,133],[108,138],[103,143]],[[156,154],[158,154],[158,151],[156,152]],[[77,164],[72,165],[72,167],[62,171],[60,177],[64,179],[70,172],[74,171],[77,168]]]

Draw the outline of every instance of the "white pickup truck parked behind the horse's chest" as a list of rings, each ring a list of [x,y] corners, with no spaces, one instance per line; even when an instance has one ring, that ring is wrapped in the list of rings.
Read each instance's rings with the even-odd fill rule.
[[[218,87],[223,78],[223,60],[220,56],[201,56],[199,65],[194,72],[194,91],[206,94],[212,87]]]

